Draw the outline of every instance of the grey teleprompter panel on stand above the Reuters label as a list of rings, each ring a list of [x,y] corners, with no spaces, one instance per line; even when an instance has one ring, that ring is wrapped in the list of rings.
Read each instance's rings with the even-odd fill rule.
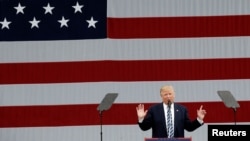
[[[236,125],[236,110],[240,107],[239,103],[235,100],[230,91],[217,91],[221,100],[227,108],[232,108],[234,111],[234,124]]]

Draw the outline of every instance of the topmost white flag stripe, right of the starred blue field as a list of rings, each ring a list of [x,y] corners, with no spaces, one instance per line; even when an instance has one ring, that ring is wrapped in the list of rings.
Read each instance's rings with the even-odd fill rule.
[[[182,17],[250,14],[249,0],[108,0],[108,17]]]

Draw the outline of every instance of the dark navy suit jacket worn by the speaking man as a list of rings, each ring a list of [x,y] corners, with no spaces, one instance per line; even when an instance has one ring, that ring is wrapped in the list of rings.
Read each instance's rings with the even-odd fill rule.
[[[163,103],[151,106],[142,123],[139,123],[141,130],[146,131],[152,128],[152,138],[166,138],[167,127],[164,115]],[[174,103],[174,137],[184,137],[184,130],[194,131],[202,124],[197,119],[191,121],[186,107]]]

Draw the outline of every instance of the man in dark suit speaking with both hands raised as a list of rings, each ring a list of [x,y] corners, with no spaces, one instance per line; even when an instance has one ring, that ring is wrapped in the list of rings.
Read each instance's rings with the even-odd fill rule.
[[[144,110],[143,104],[139,104],[136,107],[139,127],[143,131],[152,128],[152,138],[170,138],[170,131],[168,131],[167,124],[168,109],[170,109],[172,113],[171,120],[173,121],[174,138],[184,137],[184,130],[194,131],[203,125],[206,111],[202,109],[202,105],[197,110],[197,118],[190,120],[186,107],[174,103],[175,92],[172,86],[166,85],[161,87],[160,96],[162,102],[151,106],[148,110]]]

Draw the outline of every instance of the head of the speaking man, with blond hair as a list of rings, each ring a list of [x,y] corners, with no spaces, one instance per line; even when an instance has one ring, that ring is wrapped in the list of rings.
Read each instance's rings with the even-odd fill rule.
[[[164,103],[167,104],[168,101],[174,102],[175,93],[172,87],[162,87],[160,95]]]

